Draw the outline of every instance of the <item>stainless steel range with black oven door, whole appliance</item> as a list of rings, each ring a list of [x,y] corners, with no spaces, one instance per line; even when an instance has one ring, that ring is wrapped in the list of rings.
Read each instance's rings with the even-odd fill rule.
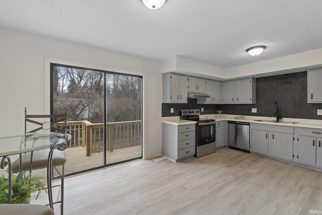
[[[180,110],[180,118],[196,121],[196,155],[200,157],[216,151],[216,123],[214,119],[200,118],[199,109]]]

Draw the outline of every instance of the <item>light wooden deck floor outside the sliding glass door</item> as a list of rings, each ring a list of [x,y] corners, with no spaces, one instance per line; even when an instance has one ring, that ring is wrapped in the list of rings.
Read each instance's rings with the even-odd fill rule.
[[[65,174],[104,165],[103,152],[86,156],[86,147],[67,148],[65,152],[67,159]],[[140,156],[141,146],[114,150],[113,152],[106,152],[106,163],[115,163]],[[56,171],[54,172],[54,175],[56,175]]]

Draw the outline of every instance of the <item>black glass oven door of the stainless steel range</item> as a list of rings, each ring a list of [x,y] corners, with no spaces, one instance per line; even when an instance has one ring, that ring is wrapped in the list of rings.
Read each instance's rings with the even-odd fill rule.
[[[216,141],[216,123],[200,122],[198,123],[197,147],[210,144]]]

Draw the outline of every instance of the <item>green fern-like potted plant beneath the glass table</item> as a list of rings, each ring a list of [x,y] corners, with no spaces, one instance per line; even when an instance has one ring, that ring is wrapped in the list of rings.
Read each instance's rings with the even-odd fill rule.
[[[18,175],[12,175],[12,199],[11,203],[13,204],[29,204],[31,193],[38,191],[36,199],[39,197],[41,190],[45,190],[47,193],[46,187],[41,179],[45,179],[42,175],[33,175],[29,174],[25,176],[24,172],[19,173]],[[8,203],[8,184],[9,179],[4,175],[0,176],[0,203]]]

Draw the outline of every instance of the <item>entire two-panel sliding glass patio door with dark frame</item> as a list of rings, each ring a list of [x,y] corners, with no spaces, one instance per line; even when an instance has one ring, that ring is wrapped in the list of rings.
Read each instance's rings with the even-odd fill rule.
[[[142,77],[51,64],[51,112],[68,108],[65,175],[142,158]]]

